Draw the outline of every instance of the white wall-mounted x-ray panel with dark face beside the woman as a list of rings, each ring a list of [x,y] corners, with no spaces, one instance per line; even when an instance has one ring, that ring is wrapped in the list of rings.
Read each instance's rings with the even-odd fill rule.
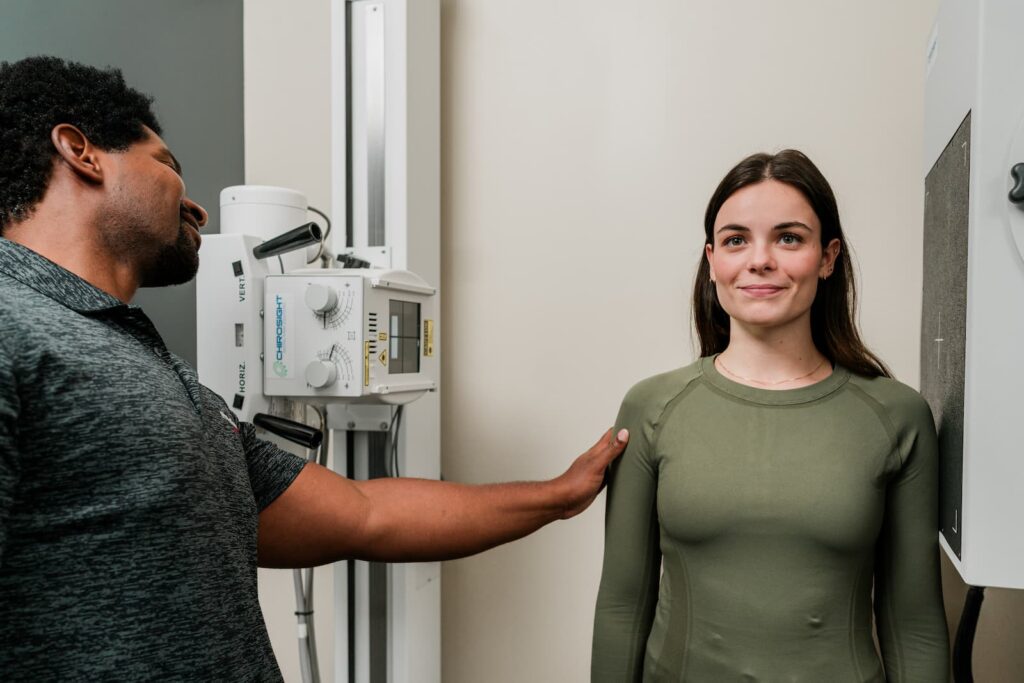
[[[1019,0],[943,0],[927,46],[921,376],[940,542],[966,583],[1004,588],[1024,588],[1022,27]]]

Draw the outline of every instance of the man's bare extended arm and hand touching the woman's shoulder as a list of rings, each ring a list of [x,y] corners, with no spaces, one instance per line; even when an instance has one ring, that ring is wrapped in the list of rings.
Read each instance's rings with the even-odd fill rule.
[[[445,560],[487,550],[585,510],[627,438],[608,430],[564,474],[537,482],[355,481],[306,465],[260,513],[259,564]]]

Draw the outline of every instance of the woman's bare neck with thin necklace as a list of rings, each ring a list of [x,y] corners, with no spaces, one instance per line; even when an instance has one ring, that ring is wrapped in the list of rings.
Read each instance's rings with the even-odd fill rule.
[[[718,370],[729,379],[766,389],[796,389],[820,382],[833,368],[814,346],[809,317],[784,328],[749,328],[731,322],[729,345]]]

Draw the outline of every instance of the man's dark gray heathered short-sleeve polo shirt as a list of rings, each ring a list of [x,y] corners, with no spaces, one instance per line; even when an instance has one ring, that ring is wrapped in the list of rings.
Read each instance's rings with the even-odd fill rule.
[[[302,465],[141,309],[0,239],[0,679],[281,680],[257,512]]]

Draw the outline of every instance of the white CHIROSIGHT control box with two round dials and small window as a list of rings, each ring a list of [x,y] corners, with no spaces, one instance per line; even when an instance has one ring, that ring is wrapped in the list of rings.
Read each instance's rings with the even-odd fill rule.
[[[435,389],[434,294],[404,270],[268,275],[263,392],[309,403],[407,403]]]

